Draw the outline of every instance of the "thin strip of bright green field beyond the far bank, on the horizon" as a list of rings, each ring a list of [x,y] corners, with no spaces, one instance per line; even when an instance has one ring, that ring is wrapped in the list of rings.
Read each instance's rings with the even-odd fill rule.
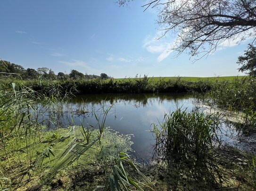
[[[164,81],[169,81],[169,80],[176,80],[178,78],[180,78],[181,80],[185,80],[185,81],[190,81],[190,82],[197,82],[200,80],[211,80],[211,81],[223,81],[223,80],[233,80],[233,79],[242,79],[244,77],[247,76],[219,76],[219,77],[187,77],[187,76],[173,76],[173,77],[149,77],[149,79],[153,79],[154,81],[158,81],[160,79],[164,80]],[[116,81],[122,81],[124,79],[127,78],[115,78]],[[129,79],[139,79],[139,78],[129,78]]]

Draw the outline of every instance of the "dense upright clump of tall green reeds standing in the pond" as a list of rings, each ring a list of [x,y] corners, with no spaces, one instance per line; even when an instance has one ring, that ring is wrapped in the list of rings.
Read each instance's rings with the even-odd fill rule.
[[[186,110],[178,108],[165,114],[159,127],[153,124],[159,156],[203,159],[211,150],[213,139],[217,138],[218,116]]]

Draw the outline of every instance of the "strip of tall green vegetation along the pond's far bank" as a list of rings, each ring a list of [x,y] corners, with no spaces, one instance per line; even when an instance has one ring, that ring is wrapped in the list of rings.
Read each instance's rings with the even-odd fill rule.
[[[143,77],[137,79],[124,80],[101,80],[101,79],[79,79],[65,81],[48,80],[15,80],[17,87],[24,85],[31,87],[37,92],[50,92],[52,89],[58,89],[59,92],[71,92],[74,89],[76,93],[147,93],[147,92],[206,92],[211,89],[213,82],[209,80],[186,81],[182,78],[165,79]],[[2,81],[2,84],[9,85],[10,81]]]

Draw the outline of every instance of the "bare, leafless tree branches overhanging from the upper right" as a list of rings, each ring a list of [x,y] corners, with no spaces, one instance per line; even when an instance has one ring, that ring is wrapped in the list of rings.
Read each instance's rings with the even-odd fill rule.
[[[117,2],[123,6],[129,1]],[[204,56],[226,41],[256,38],[256,0],[151,0],[142,7],[159,8],[160,38],[176,34],[170,49],[178,55]]]

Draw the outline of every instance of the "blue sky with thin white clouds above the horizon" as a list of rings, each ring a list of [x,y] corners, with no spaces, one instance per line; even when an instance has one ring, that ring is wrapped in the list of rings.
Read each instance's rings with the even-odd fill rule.
[[[226,42],[196,62],[161,39],[157,8],[147,1],[119,7],[115,0],[0,0],[0,58],[25,69],[148,76],[242,76],[236,63],[250,41]]]

